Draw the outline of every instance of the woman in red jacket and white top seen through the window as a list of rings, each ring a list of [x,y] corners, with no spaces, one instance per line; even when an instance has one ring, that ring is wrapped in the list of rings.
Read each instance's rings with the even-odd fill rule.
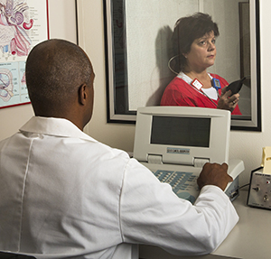
[[[217,23],[209,14],[182,17],[173,31],[175,70],[180,71],[165,88],[161,106],[200,106],[227,109],[241,115],[238,94],[227,91],[229,83],[207,72],[216,58]]]

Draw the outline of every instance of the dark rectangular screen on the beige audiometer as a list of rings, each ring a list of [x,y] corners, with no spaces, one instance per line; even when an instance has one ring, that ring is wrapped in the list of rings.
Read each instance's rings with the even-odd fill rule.
[[[151,143],[209,147],[210,118],[153,116]]]

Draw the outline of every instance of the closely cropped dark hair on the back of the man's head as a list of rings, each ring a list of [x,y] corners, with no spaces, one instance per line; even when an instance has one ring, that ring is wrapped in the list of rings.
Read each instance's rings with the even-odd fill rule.
[[[25,78],[29,97],[42,110],[65,109],[79,86],[89,83],[90,60],[78,45],[48,40],[36,45],[26,60]]]

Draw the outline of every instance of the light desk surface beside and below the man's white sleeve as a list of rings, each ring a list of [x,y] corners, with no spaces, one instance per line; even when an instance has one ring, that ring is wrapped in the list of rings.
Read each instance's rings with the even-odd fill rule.
[[[238,224],[229,233],[220,247],[212,254],[187,258],[242,258],[269,259],[271,258],[271,211],[247,206],[248,191],[241,190],[240,196],[233,202],[240,217]],[[145,259],[177,259],[164,250],[148,245],[140,245],[140,258]]]

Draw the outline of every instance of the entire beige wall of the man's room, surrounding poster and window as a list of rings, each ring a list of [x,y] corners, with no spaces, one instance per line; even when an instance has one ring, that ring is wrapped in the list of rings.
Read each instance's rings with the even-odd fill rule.
[[[55,3],[52,4],[53,2]],[[96,73],[94,115],[85,131],[103,143],[107,143],[126,151],[132,151],[134,145],[135,125],[107,124],[102,0],[78,0],[78,2],[79,44],[89,54]],[[73,38],[74,40],[74,33],[70,32],[70,28],[74,26],[72,22],[73,20],[71,18],[68,19],[70,16],[67,15],[67,12],[70,12],[70,14],[72,13],[71,3],[74,3],[74,1],[50,0],[51,38],[66,38],[70,39],[70,41],[72,41]],[[66,8],[67,10],[62,12],[63,15],[65,14],[65,17],[59,18],[57,16],[59,8],[52,7]],[[269,47],[271,34],[269,33],[269,14],[271,12],[271,1],[260,0],[260,10],[262,106],[264,107],[262,109],[263,132],[255,133],[234,131],[230,134],[229,158],[242,159],[246,166],[246,171],[240,177],[241,184],[247,183],[250,171],[260,165],[262,147],[271,146],[271,102],[269,101],[271,96],[271,87],[269,86],[269,74],[271,68],[271,49]],[[62,19],[65,20],[65,24],[62,23],[63,26],[61,27],[61,30],[58,30],[58,28],[60,28],[58,27],[60,26],[59,21],[63,22]],[[267,23],[264,23],[264,21],[267,21]],[[18,130],[18,127],[30,116],[33,116],[31,106],[0,109],[0,140],[10,134],[14,134]]]

